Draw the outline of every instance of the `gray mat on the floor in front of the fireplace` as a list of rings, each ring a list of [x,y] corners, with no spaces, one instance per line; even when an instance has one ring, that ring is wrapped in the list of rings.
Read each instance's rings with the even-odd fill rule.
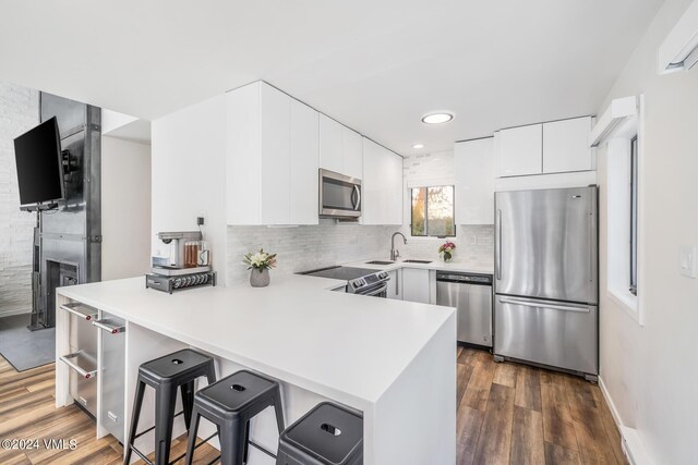
[[[24,371],[56,360],[56,328],[29,331],[31,315],[0,318],[0,354]]]

